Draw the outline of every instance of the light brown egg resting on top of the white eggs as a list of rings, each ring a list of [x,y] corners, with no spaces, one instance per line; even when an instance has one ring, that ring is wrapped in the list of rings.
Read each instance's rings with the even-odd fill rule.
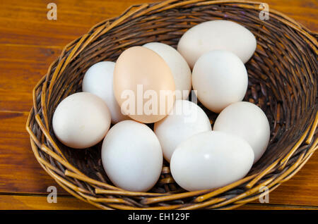
[[[175,102],[175,81],[169,66],[143,46],[126,49],[119,56],[113,84],[122,113],[141,123],[165,118]]]

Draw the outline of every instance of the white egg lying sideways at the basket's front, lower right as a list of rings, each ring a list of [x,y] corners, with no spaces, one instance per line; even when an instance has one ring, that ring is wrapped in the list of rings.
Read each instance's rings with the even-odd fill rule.
[[[249,144],[225,132],[202,132],[178,145],[170,170],[188,191],[223,187],[247,175],[254,161]]]

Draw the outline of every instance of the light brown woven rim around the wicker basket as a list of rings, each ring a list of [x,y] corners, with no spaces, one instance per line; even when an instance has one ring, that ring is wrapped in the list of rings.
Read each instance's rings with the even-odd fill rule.
[[[49,101],[49,98],[52,94],[52,86],[50,82],[52,82],[52,79],[57,78],[58,73],[62,73],[62,71],[66,68],[67,64],[70,63],[73,58],[76,58],[78,54],[85,49],[90,42],[93,42],[94,39],[98,39],[101,35],[105,34],[106,32],[109,32],[112,30],[112,28],[121,25],[122,23],[126,23],[126,20],[137,18],[141,15],[147,15],[147,13],[151,13],[152,11],[160,9],[160,11],[165,11],[170,8],[175,8],[177,6],[187,6],[189,4],[239,4],[241,7],[245,8],[253,8],[255,10],[261,10],[259,7],[259,4],[261,2],[258,1],[228,1],[228,0],[221,0],[221,1],[204,1],[204,0],[189,0],[189,1],[177,1],[177,0],[167,0],[162,2],[155,2],[152,4],[137,4],[134,6],[131,6],[122,13],[122,15],[119,15],[114,18],[108,18],[107,20],[103,20],[102,22],[98,23],[97,25],[94,25],[88,33],[82,35],[81,37],[78,37],[78,39],[75,39],[73,42],[70,42],[69,44],[66,44],[63,51],[61,52],[60,56],[55,60],[48,69],[48,72],[45,76],[41,78],[41,80],[37,83],[35,88],[33,89],[33,108],[31,109],[28,120],[26,123],[26,130],[28,131],[30,135],[30,142],[31,142],[31,148],[33,149],[33,153],[35,154],[35,158],[37,158],[37,161],[40,163],[42,168],[54,178],[54,180],[57,181],[61,187],[66,189],[67,192],[72,194],[74,197],[77,197],[78,199],[81,199],[82,201],[86,201],[90,204],[93,204],[94,206],[99,207],[100,209],[142,209],[138,208],[136,206],[133,206],[131,204],[127,204],[126,201],[121,200],[119,198],[100,198],[100,197],[92,197],[88,194],[91,194],[87,189],[83,189],[82,187],[78,187],[76,185],[73,185],[71,182],[68,182],[64,180],[64,178],[61,178],[61,175],[64,175],[68,178],[74,178],[79,181],[83,181],[88,183],[89,185],[95,186],[95,192],[94,194],[101,195],[101,194],[115,194],[115,195],[126,195],[130,197],[140,196],[145,197],[141,200],[141,202],[145,205],[151,205],[158,203],[160,201],[166,201],[169,199],[183,199],[186,197],[196,197],[194,200],[199,205],[193,205],[193,206],[187,206],[187,207],[180,207],[179,205],[170,205],[170,206],[164,206],[164,207],[147,207],[146,209],[200,209],[203,207],[210,206],[213,208],[213,204],[219,204],[222,206],[226,204],[232,203],[232,206],[230,206],[230,209],[234,209],[238,206],[241,206],[243,204],[246,204],[249,201],[253,201],[254,199],[257,199],[259,195],[257,194],[254,197],[253,196],[261,186],[269,187],[269,192],[271,192],[273,189],[276,189],[279,185],[281,185],[282,182],[285,182],[286,180],[289,180],[295,173],[302,168],[302,166],[305,165],[307,160],[312,156],[314,151],[318,149],[318,138],[315,134],[317,130],[317,124],[318,124],[318,112],[316,113],[314,120],[312,120],[312,123],[307,127],[307,130],[302,134],[299,141],[295,144],[295,147],[290,150],[290,153],[285,156],[285,158],[280,159],[280,161],[276,161],[272,163],[271,166],[263,170],[263,172],[259,173],[259,175],[249,175],[246,178],[243,178],[242,180],[239,180],[237,182],[234,182],[230,185],[227,185],[225,187],[220,187],[219,189],[207,189],[207,190],[201,190],[196,192],[181,192],[176,194],[158,194],[158,193],[151,193],[151,192],[128,192],[123,189],[119,189],[118,187],[114,187],[112,185],[108,185],[105,182],[100,182],[98,180],[93,180],[92,178],[89,178],[87,175],[83,174],[78,168],[75,168],[72,166],[64,157],[64,154],[59,150],[59,147],[57,147],[57,144],[55,144],[54,139],[49,134],[49,120],[47,119],[47,106],[44,101]],[[307,44],[309,44],[314,52],[318,54],[317,48],[318,48],[318,32],[312,32],[309,29],[307,29],[305,26],[301,25],[297,21],[293,20],[292,18],[288,17],[288,15],[285,15],[283,13],[280,13],[278,11],[275,11],[273,9],[269,9],[269,12],[271,13],[271,16],[274,15],[276,18],[280,19],[282,23],[285,23],[289,27],[292,27],[294,30],[297,30],[298,32],[302,33],[304,35],[305,41]],[[66,52],[71,52],[69,54],[66,54]],[[67,55],[67,56],[66,56]],[[53,77],[51,77],[51,80],[49,80],[49,76],[51,73],[52,68],[57,65],[57,68],[54,72]],[[39,90],[41,90],[41,94],[38,95]],[[43,92],[47,92],[47,96],[43,94]],[[37,100],[41,97],[41,104],[38,105]],[[39,106],[41,107],[39,109]],[[44,113],[44,117],[41,118],[39,113]],[[39,138],[35,135],[35,132],[32,129],[32,126],[34,123],[37,123],[39,125],[42,135],[47,139],[47,142],[51,144],[52,148],[54,148],[56,151],[52,151],[47,147],[45,144],[41,143]],[[267,173],[269,173],[273,168],[276,166],[279,166],[281,170],[283,170],[288,163],[288,160],[293,156],[296,149],[300,147],[300,145],[305,142],[305,144],[311,144],[311,147],[307,150],[307,153],[302,154],[302,156],[299,156],[298,160],[293,163],[292,166],[290,166],[283,175],[279,176],[279,178],[272,178],[269,180],[266,180],[266,182],[261,182],[261,184],[257,185],[259,180],[264,177]],[[45,161],[39,153],[38,150],[44,151],[46,154],[54,158],[55,160],[59,161],[61,165],[63,165],[66,170],[64,173],[61,172],[61,170],[58,170],[54,166],[52,166],[50,163]],[[226,199],[215,199],[213,201],[208,199],[211,199],[212,197],[216,196],[217,194],[220,194],[222,192],[225,192],[228,189],[232,189],[233,187],[237,187],[243,182],[248,182],[246,185],[249,190],[247,190],[244,194],[244,196],[236,197],[235,199],[232,199],[231,201]],[[256,186],[255,186],[256,185]],[[205,203],[206,202],[206,206]],[[102,203],[110,203],[112,206],[104,206]]]

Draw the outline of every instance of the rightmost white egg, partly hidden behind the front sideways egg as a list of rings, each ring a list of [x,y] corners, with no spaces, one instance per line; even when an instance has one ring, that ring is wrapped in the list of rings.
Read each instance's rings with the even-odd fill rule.
[[[216,118],[213,130],[245,139],[254,150],[256,163],[266,151],[271,135],[265,113],[249,102],[238,102],[225,108]]]

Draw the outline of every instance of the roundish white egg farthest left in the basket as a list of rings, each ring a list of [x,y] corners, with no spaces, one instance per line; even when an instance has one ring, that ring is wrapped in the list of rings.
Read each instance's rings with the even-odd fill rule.
[[[59,103],[52,124],[60,142],[84,149],[98,144],[105,137],[110,128],[110,111],[100,97],[78,92]]]

